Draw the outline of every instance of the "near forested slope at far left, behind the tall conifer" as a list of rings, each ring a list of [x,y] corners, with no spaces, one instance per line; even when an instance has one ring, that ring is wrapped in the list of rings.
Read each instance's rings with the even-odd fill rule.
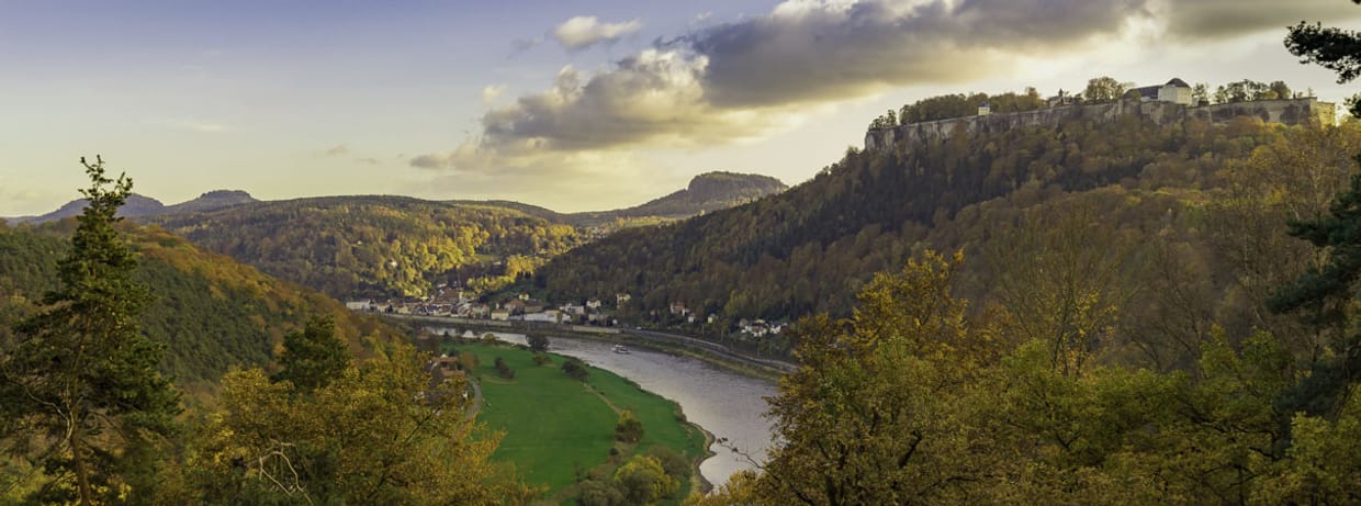
[[[0,222],[0,341],[57,283],[57,261],[71,248],[73,219],[10,227]],[[331,316],[336,333],[363,355],[362,337],[399,339],[382,322],[351,314],[313,290],[265,276],[204,252],[158,227],[124,223],[140,254],[137,280],[154,301],[142,328],[167,347],[162,369],[181,385],[211,384],[231,367],[268,363],[275,345],[309,317]]]

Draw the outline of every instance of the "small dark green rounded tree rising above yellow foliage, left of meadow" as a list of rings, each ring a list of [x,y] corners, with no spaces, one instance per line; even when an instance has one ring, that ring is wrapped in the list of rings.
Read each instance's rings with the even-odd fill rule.
[[[313,317],[302,331],[283,336],[282,370],[274,381],[291,381],[299,392],[327,386],[350,366],[350,348],[336,337],[335,318]]]

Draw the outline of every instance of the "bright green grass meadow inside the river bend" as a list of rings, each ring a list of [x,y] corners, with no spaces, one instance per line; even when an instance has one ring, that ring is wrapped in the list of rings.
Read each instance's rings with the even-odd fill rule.
[[[562,373],[563,356],[539,366],[534,354],[504,345],[463,344],[460,351],[478,355],[474,374],[482,385],[483,405],[478,419],[505,433],[494,460],[516,465],[525,482],[548,487],[548,495],[576,482],[577,472],[610,464],[610,449],[646,452],[667,446],[689,460],[705,452],[704,434],[676,418],[675,403],[640,389],[614,373],[591,367],[588,385]],[[514,380],[497,375],[501,358]],[[630,409],[642,422],[642,441],[636,448],[614,441],[618,409]],[[682,494],[690,490],[682,484]]]

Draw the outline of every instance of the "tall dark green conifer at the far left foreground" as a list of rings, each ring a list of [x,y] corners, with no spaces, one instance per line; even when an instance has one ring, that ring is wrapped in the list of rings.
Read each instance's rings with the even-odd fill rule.
[[[60,288],[0,351],[0,414],[18,423],[4,434],[10,452],[39,456],[53,475],[45,501],[69,501],[61,496],[73,480],[73,499],[91,505],[97,494],[127,492],[116,490],[124,482],[116,469],[143,453],[122,450],[170,434],[180,401],[157,369],[162,345],[139,329],[150,294],[133,280],[136,254],[114,229],[132,180],[109,178],[98,156],[80,163],[91,181],[80,190],[87,205],[59,263]]]

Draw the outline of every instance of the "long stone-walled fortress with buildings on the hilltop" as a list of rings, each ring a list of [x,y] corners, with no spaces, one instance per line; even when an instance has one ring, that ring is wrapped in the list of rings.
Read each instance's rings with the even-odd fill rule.
[[[1164,86],[1147,86],[1130,90],[1126,98],[1102,102],[1063,105],[1064,101],[1051,99],[1051,106],[1019,113],[989,114],[988,103],[979,105],[977,116],[965,116],[949,120],[911,122],[891,128],[878,128],[866,132],[864,148],[891,150],[897,143],[919,143],[928,140],[949,139],[954,135],[974,136],[979,133],[998,133],[1021,126],[1051,126],[1056,128],[1066,122],[1094,121],[1115,122],[1126,116],[1136,116],[1145,121],[1151,121],[1162,126],[1170,126],[1188,120],[1200,120],[1210,124],[1224,124],[1236,117],[1256,117],[1264,122],[1279,122],[1286,125],[1300,125],[1317,122],[1332,125],[1337,122],[1337,106],[1331,102],[1319,102],[1315,98],[1292,98],[1281,101],[1252,101],[1217,105],[1191,105],[1191,90],[1180,79],[1173,79]]]

